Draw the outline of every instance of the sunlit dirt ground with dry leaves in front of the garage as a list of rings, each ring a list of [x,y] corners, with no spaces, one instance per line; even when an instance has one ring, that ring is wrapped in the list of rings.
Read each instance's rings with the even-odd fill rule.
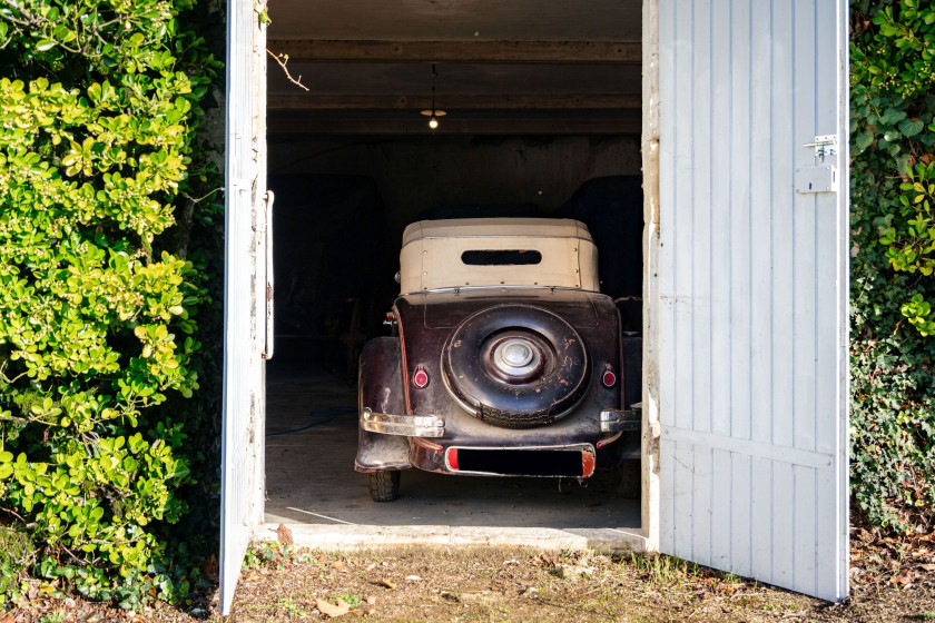
[[[669,556],[404,547],[354,554],[250,550],[228,621],[935,621],[935,534],[852,535],[852,594],[830,604]],[[217,591],[136,614],[37,599],[0,623],[224,621]]]

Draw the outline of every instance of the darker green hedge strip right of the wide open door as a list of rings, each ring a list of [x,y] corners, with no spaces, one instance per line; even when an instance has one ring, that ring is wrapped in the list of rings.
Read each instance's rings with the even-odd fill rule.
[[[929,530],[935,7],[852,9],[852,494],[874,523]]]

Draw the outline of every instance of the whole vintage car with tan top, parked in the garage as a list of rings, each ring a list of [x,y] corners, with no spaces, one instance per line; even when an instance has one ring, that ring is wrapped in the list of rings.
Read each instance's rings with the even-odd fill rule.
[[[360,364],[355,468],[374,501],[395,500],[410,467],[588,478],[599,452],[638,438],[626,398],[639,388],[626,380],[639,383],[640,342],[621,334],[597,266],[577,220],[405,229],[393,335],[368,342]]]

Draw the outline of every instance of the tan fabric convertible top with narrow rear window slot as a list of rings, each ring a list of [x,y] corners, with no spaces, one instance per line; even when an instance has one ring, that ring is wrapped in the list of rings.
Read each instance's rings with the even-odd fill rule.
[[[541,260],[535,264],[465,264],[465,251],[538,251]],[[598,291],[598,251],[584,224],[571,219],[422,220],[413,222],[403,233],[400,285],[403,294],[475,286],[541,286]]]

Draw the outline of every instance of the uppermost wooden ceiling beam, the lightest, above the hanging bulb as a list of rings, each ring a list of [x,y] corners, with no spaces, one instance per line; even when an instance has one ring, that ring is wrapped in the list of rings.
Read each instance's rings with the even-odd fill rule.
[[[642,62],[639,41],[351,41],[270,39],[293,62]]]

